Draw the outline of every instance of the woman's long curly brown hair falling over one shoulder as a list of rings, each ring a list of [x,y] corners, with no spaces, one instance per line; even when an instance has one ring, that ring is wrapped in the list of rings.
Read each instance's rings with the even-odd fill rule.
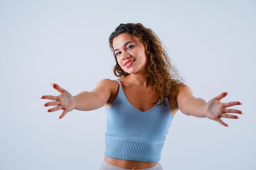
[[[146,82],[157,95],[157,101],[160,100],[160,104],[162,104],[165,102],[165,97],[171,98],[175,96],[177,85],[184,86],[183,79],[171,63],[157,35],[151,29],[145,28],[140,23],[120,24],[110,35],[109,45],[116,60],[113,70],[115,76],[121,78],[129,75],[129,73],[126,73],[119,66],[117,56],[113,49],[113,39],[121,33],[129,33],[136,36],[138,41],[145,46],[147,57]]]

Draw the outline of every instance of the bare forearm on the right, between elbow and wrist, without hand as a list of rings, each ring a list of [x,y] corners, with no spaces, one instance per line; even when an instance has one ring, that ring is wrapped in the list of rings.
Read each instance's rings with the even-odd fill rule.
[[[185,115],[191,115],[195,117],[205,117],[205,107],[207,102],[201,98],[194,98],[188,101],[180,111]]]

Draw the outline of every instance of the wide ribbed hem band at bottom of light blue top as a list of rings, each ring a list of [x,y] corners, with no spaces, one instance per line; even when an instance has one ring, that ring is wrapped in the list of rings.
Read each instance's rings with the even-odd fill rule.
[[[149,143],[105,136],[105,157],[132,161],[159,162],[164,142]]]

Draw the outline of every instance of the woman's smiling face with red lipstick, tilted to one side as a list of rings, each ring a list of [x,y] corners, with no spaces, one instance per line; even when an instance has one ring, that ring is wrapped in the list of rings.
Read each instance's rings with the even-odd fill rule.
[[[145,47],[137,37],[122,33],[113,39],[113,49],[119,66],[126,73],[145,73],[147,62]]]

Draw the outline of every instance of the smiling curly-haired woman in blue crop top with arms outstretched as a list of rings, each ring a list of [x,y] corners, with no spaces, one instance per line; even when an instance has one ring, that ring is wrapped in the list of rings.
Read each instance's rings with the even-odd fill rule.
[[[107,113],[106,150],[100,170],[162,170],[159,164],[168,128],[180,110],[185,115],[207,117],[228,126],[220,118],[238,119],[242,111],[227,107],[241,102],[222,103],[224,92],[209,102],[196,98],[171,65],[168,55],[152,30],[142,24],[120,24],[109,38],[117,80],[103,79],[91,92],[72,96],[58,86],[59,96],[44,95],[63,110],[60,119],[73,109],[94,110],[105,106]]]

